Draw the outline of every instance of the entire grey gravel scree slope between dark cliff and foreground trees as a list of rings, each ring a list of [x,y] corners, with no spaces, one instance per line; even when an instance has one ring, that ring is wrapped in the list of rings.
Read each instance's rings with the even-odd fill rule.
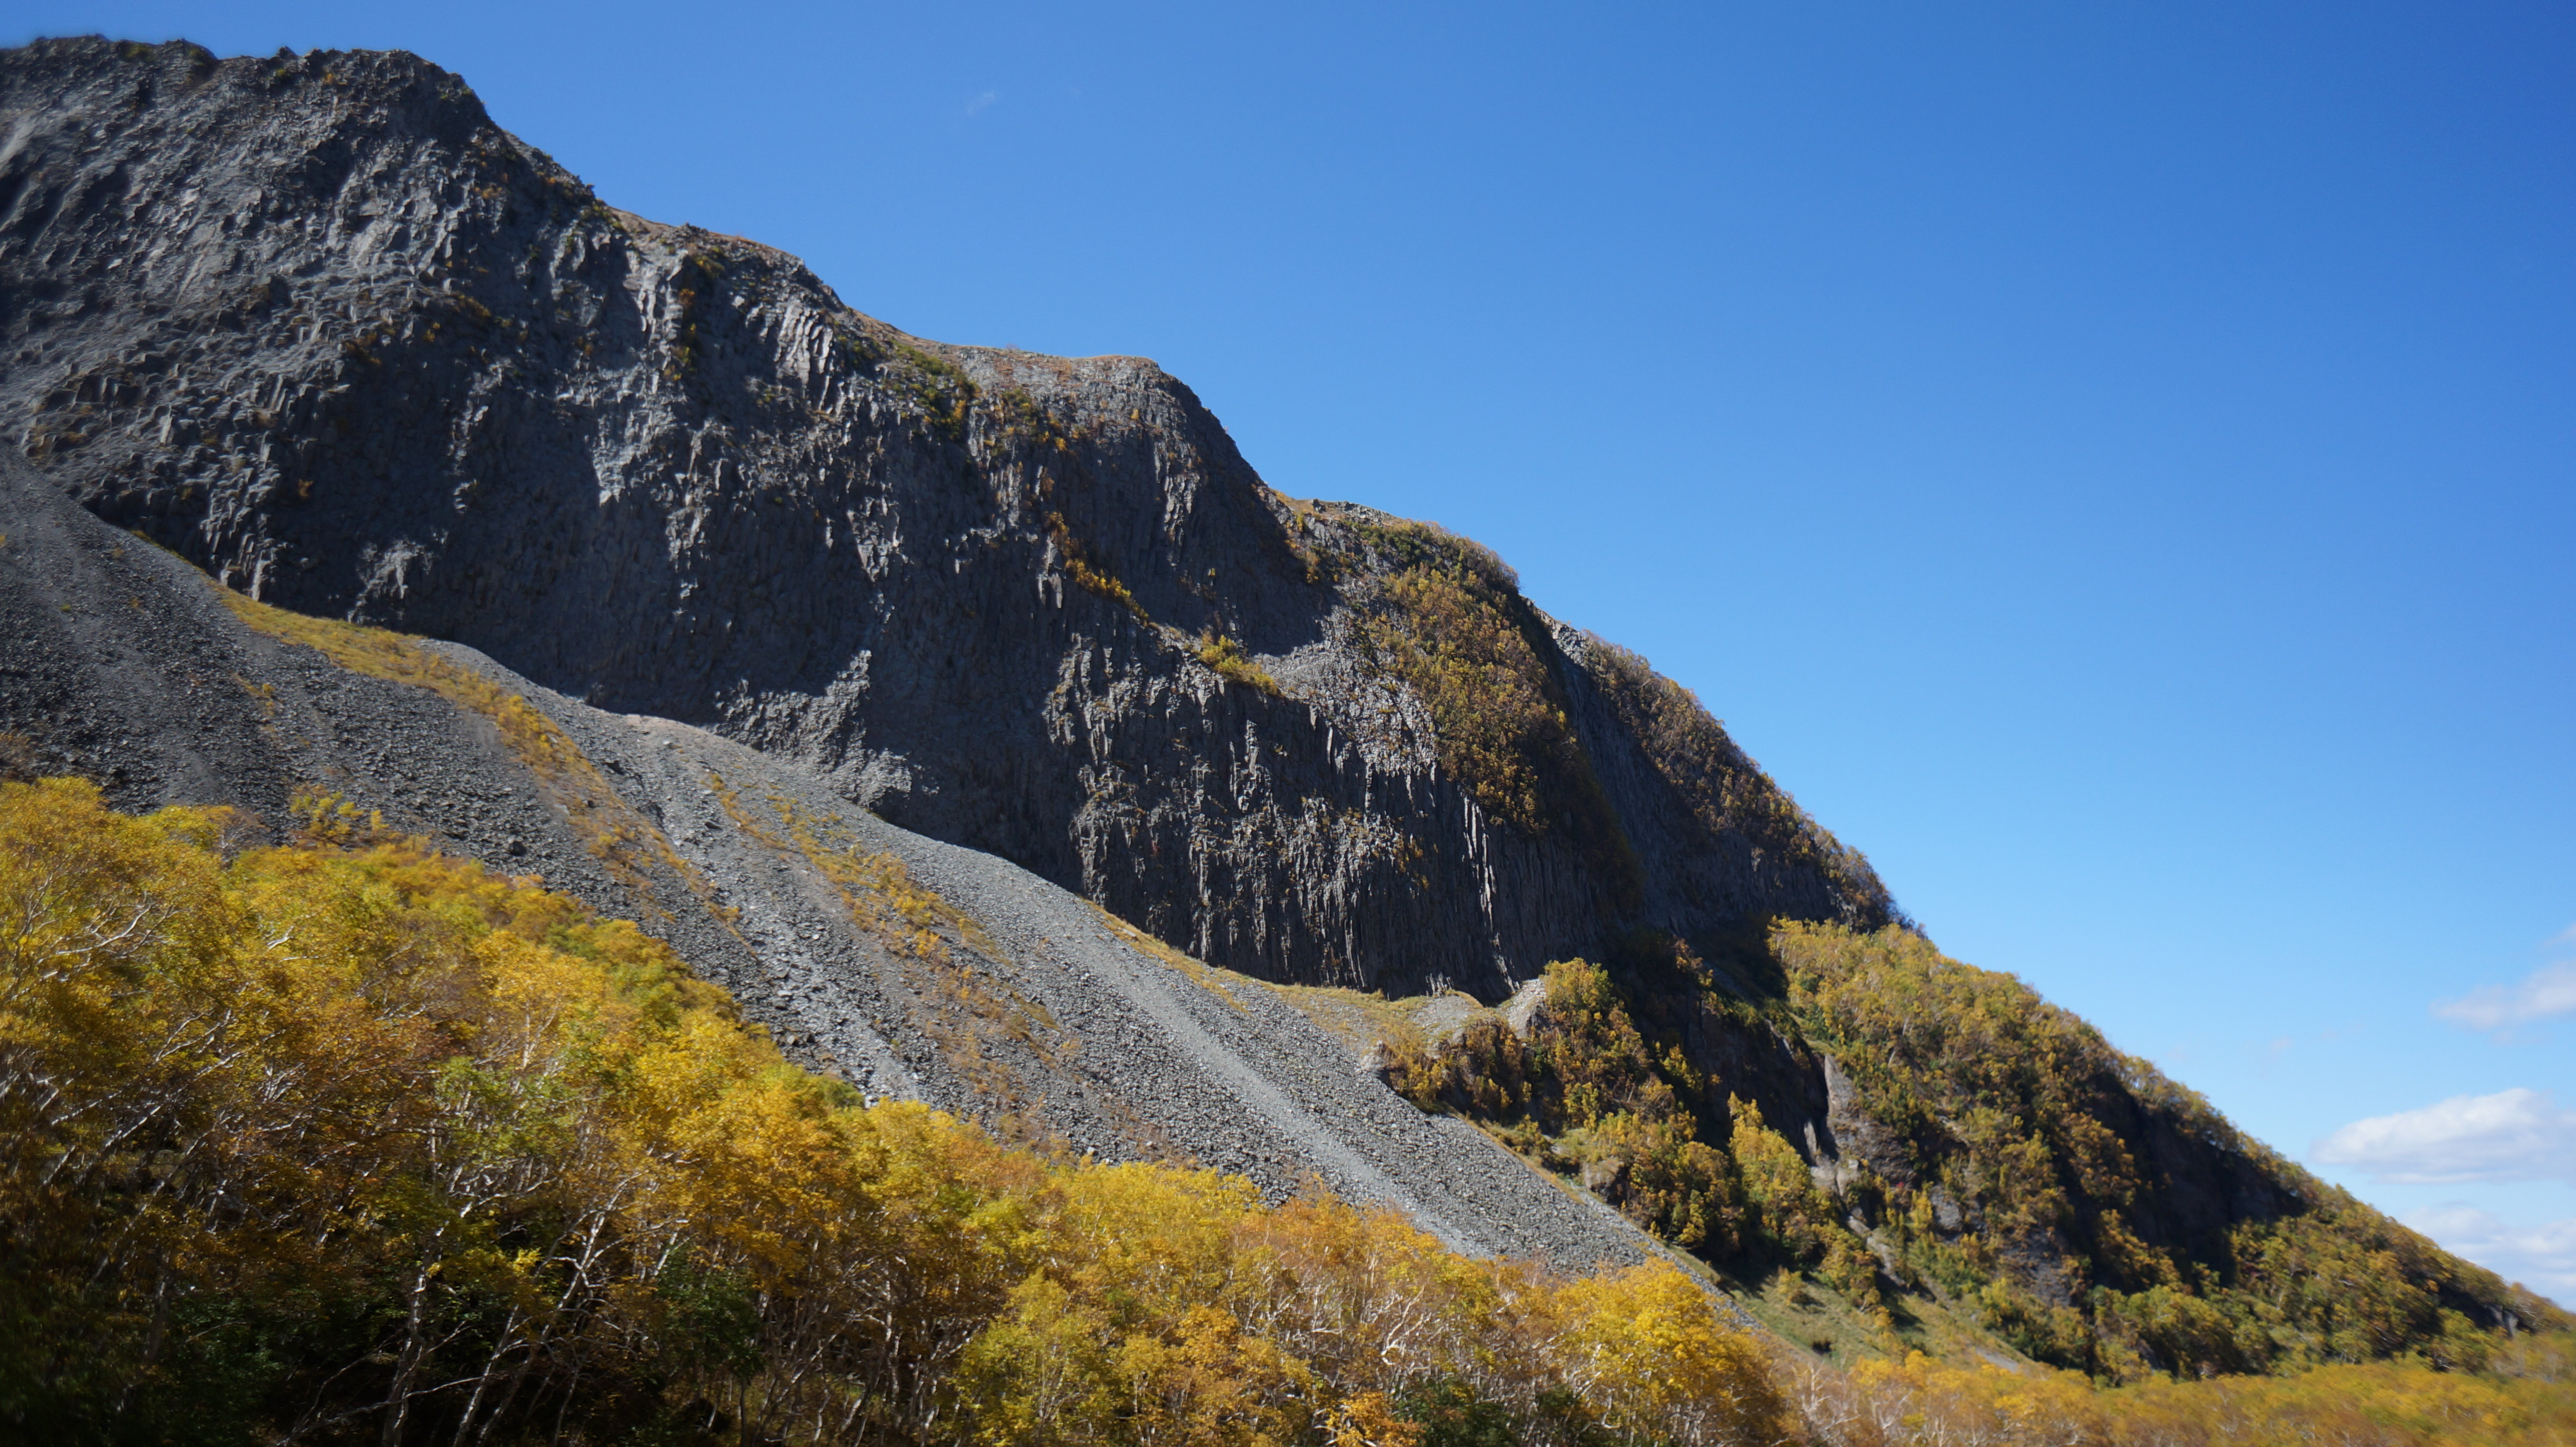
[[[232,803],[270,834],[299,790],[337,796],[639,919],[806,1066],[1007,1138],[1198,1161],[1270,1197],[1319,1182],[1473,1254],[1582,1267],[1651,1249],[1595,1197],[1417,1112],[1273,986],[1180,958],[1020,865],[886,824],[791,762],[587,708],[461,644],[422,646],[554,718],[680,868],[621,883],[569,824],[562,780],[531,772],[489,718],[247,628],[193,566],[0,453],[0,734],[18,775],[80,772],[124,808]],[[827,865],[935,893],[945,911],[917,909],[935,942]]]

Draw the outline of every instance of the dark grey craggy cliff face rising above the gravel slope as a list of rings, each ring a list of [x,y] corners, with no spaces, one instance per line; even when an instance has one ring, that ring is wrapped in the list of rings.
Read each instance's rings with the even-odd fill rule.
[[[1139,358],[907,337],[603,206],[407,54],[0,57],[0,427],[299,613],[714,729],[1265,978],[1893,904],[1471,543]]]

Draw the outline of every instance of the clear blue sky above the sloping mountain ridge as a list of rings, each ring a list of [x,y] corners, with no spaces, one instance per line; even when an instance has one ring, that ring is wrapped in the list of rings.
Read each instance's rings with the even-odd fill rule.
[[[899,327],[1151,355],[1275,487],[1497,546],[1950,953],[2285,1151],[2555,1092],[2326,1174],[2576,1300],[2576,1025],[2432,1012],[2576,958],[2568,5],[8,28],[407,46]]]

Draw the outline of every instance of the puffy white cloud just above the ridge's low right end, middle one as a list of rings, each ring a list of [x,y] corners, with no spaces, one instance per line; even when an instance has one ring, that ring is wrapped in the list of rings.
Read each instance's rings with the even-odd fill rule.
[[[2522,1087],[2455,1094],[2424,1110],[2354,1120],[2308,1156],[2396,1184],[2576,1182],[2576,1110]]]

